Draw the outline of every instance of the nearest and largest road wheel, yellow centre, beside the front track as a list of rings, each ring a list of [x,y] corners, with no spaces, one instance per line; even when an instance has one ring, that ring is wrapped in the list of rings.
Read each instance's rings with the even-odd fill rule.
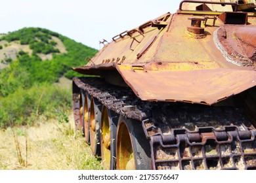
[[[117,127],[116,166],[119,170],[152,169],[150,144],[141,122],[121,116]]]

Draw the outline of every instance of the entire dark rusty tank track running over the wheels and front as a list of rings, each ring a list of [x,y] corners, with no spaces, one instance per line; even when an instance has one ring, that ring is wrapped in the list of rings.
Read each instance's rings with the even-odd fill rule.
[[[238,108],[141,101],[130,88],[100,78],[73,83],[117,114],[142,122],[153,169],[256,169],[256,130]]]

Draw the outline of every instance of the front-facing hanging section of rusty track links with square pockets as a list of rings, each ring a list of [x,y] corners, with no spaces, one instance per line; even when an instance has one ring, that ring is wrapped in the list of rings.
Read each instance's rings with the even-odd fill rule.
[[[234,126],[225,127],[225,130],[234,129],[234,131],[209,128],[208,131],[214,132],[200,134],[188,129],[179,131],[173,129],[171,135],[163,135],[161,129],[156,129],[153,125],[148,127],[146,120],[143,124],[144,131],[150,139],[154,169],[254,169],[256,167],[255,129],[247,130],[248,138],[244,139],[244,135],[240,136],[238,127]],[[156,133],[152,133],[152,129]]]

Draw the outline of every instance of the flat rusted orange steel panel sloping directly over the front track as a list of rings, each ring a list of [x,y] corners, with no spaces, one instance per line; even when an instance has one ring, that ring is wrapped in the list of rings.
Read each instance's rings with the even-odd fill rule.
[[[119,73],[142,100],[212,105],[256,86],[255,71],[205,69],[194,71],[131,71]]]

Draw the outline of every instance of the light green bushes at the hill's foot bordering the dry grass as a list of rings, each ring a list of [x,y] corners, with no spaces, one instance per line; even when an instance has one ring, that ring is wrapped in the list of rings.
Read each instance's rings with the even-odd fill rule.
[[[0,127],[32,124],[39,115],[58,118],[70,110],[72,94],[53,84],[33,84],[25,90],[18,88],[0,100]]]

